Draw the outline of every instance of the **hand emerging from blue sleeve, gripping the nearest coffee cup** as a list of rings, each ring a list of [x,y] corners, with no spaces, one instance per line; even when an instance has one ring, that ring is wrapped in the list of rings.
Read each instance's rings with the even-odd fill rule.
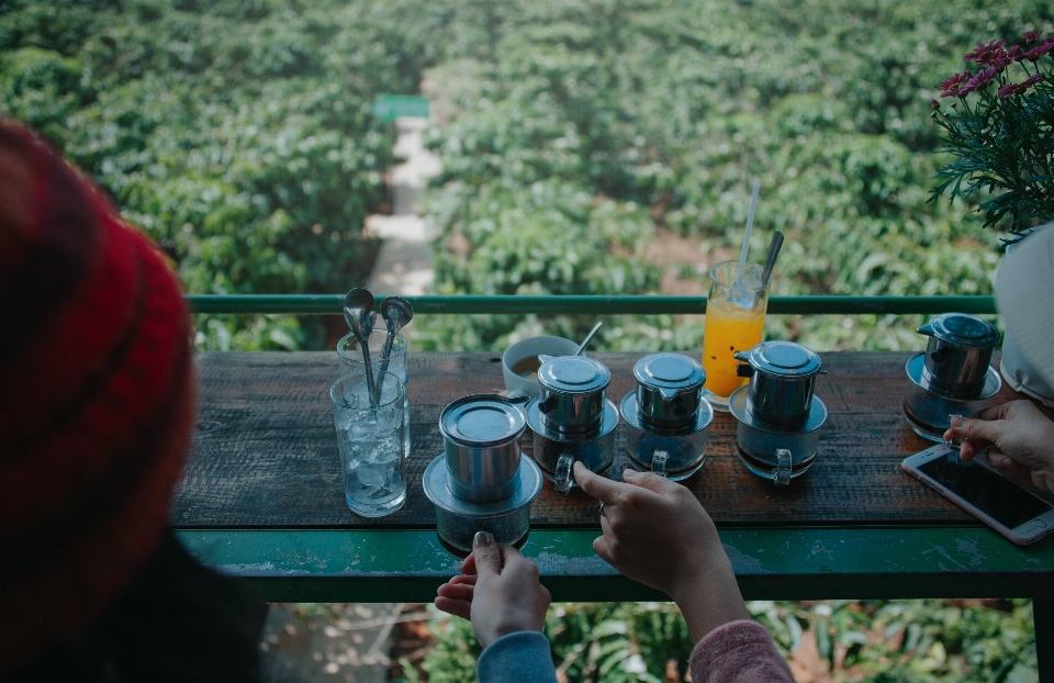
[[[538,566],[507,544],[479,531],[461,575],[439,586],[436,607],[472,622],[484,648],[522,630],[541,632],[551,597],[538,581]]]

